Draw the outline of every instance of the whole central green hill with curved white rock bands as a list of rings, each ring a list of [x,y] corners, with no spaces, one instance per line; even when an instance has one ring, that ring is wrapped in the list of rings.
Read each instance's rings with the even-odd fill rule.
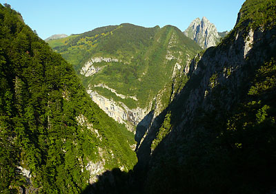
[[[168,106],[186,83],[186,65],[201,50],[173,26],[129,23],[48,43],[72,63],[92,100],[130,130],[148,128]]]

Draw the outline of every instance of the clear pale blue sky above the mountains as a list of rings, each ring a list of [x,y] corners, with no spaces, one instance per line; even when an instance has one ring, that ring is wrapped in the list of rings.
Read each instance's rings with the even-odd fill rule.
[[[244,0],[0,0],[20,12],[41,39],[79,34],[105,25],[175,25],[181,31],[207,17],[219,32],[231,30]]]

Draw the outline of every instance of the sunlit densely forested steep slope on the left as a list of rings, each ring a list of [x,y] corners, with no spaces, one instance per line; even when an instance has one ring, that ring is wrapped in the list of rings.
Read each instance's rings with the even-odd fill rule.
[[[80,193],[103,171],[132,169],[133,145],[72,65],[0,4],[0,193]]]

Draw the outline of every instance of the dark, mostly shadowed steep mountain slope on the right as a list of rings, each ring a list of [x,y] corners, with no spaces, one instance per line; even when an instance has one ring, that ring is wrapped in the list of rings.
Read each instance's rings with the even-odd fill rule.
[[[275,1],[247,0],[226,38],[193,59],[137,152],[144,193],[275,191],[275,21]]]

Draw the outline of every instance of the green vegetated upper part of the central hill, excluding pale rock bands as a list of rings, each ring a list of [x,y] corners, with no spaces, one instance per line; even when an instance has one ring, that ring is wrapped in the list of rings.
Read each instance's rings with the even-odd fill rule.
[[[72,63],[86,89],[124,103],[130,109],[150,109],[148,105],[152,99],[172,81],[175,64],[179,63],[179,72],[183,71],[188,60],[201,50],[173,26],[143,28],[128,23],[97,28],[48,43]],[[172,58],[168,59],[170,56]],[[100,57],[114,60],[93,63],[99,72],[83,75],[81,68],[85,63]],[[110,89],[95,87],[99,84],[137,100],[120,98]]]

